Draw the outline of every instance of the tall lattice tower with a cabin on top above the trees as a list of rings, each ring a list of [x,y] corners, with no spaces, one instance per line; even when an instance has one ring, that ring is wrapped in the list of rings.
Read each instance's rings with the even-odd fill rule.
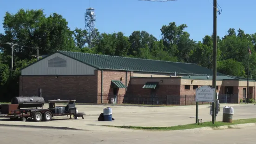
[[[86,9],[85,13],[85,30],[89,33],[88,45],[91,49],[94,47],[94,38],[96,36],[96,26],[95,26],[95,13],[94,8],[90,7]]]

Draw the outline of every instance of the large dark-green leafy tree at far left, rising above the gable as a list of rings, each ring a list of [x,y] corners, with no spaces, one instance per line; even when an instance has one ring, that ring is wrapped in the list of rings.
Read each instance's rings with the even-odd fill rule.
[[[67,21],[57,13],[46,18],[43,10],[20,9],[17,13],[6,13],[3,27],[5,35],[1,36],[1,42],[13,42],[21,46],[15,46],[17,59],[31,59],[36,50],[22,46],[42,47],[40,54],[48,54],[56,50],[70,51],[75,48],[73,32],[67,26]],[[8,45],[1,47],[4,55],[11,54]],[[34,53],[33,53],[34,52]]]

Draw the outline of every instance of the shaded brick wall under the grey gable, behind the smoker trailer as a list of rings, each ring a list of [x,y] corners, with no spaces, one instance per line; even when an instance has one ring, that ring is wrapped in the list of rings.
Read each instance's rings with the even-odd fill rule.
[[[20,76],[20,96],[38,95],[47,102],[54,99],[76,99],[77,103],[97,103],[97,71],[89,76]]]

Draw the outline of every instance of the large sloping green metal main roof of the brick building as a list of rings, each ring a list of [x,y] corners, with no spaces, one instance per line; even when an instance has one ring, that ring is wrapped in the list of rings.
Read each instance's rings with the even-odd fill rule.
[[[72,59],[99,70],[124,70],[133,72],[159,72],[193,75],[211,75],[212,70],[196,64],[160,61],[151,59],[136,59],[118,56],[99,55],[83,52],[57,51]]]

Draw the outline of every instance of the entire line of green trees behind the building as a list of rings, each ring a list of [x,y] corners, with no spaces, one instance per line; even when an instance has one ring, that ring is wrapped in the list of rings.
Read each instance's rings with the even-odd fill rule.
[[[95,46],[88,49],[88,32],[76,28],[72,30],[68,22],[58,13],[46,16],[43,10],[20,9],[17,13],[4,16],[4,33],[0,33],[0,96],[9,100],[19,94],[20,69],[34,61],[36,49],[39,55],[57,50],[88,52],[142,59],[158,59],[195,63],[212,68],[212,35],[202,41],[190,39],[185,31],[186,24],[177,26],[175,22],[160,27],[162,39],[158,40],[146,31],[134,31],[130,36],[124,33],[99,33],[94,39]],[[211,31],[211,30],[210,30]],[[14,65],[11,70],[11,46],[14,46]],[[217,38],[217,71],[227,75],[246,77],[248,45],[249,77],[256,79],[256,33],[230,28],[227,34]],[[29,47],[26,47],[29,46]]]

